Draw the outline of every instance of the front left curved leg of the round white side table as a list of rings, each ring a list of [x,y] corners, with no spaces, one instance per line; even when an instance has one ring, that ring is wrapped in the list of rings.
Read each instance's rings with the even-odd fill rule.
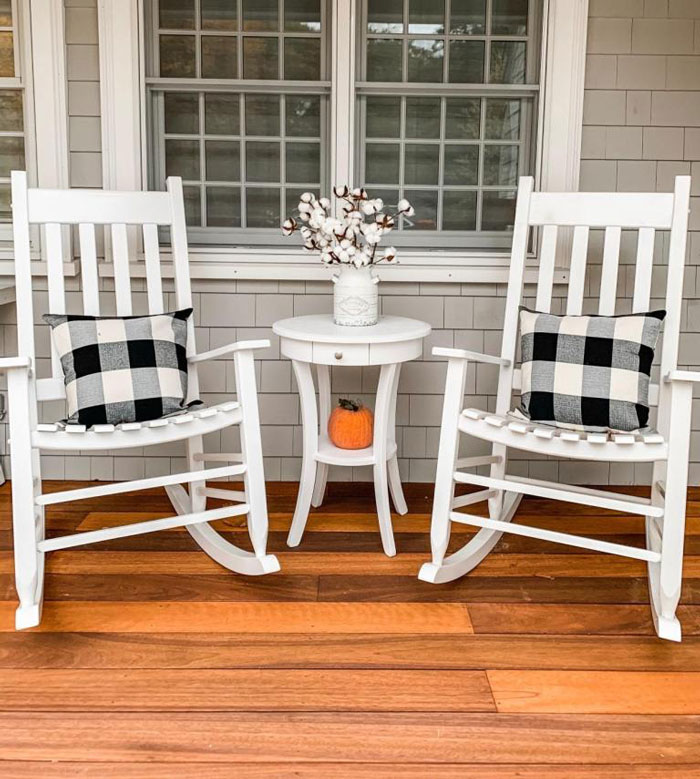
[[[299,494],[294,509],[292,526],[287,536],[288,546],[297,546],[306,527],[311,507],[311,495],[316,472],[316,452],[318,450],[318,413],[316,411],[316,392],[311,365],[307,362],[292,360],[292,368],[299,388],[301,402],[301,422],[303,426],[303,461],[299,479]]]

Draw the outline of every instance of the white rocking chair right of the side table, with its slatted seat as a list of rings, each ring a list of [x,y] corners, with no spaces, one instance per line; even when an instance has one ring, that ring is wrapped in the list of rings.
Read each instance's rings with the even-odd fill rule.
[[[432,562],[423,565],[420,579],[439,584],[466,574],[486,557],[504,532],[645,560],[656,631],[661,638],[680,641],[676,606],[681,591],[692,383],[700,381],[700,373],[676,368],[689,197],[690,178],[687,176],[676,178],[673,194],[533,192],[531,178],[520,180],[501,356],[460,349],[433,349],[433,354],[447,358],[448,365],[430,533]],[[574,315],[580,314],[582,308],[590,228],[605,228],[598,306],[598,313],[603,315],[615,313],[621,229],[639,231],[633,312],[649,308],[655,231],[670,230],[668,266],[664,269],[667,315],[661,381],[650,388],[650,400],[658,405],[658,433],[577,433],[514,420],[508,414],[513,407],[512,394],[520,389],[520,370],[515,367],[518,307],[529,232],[534,226],[542,228],[537,311],[550,311],[557,229],[559,226],[573,227],[566,313]],[[661,344],[657,348],[661,348]],[[500,367],[495,413],[472,408],[463,410],[465,377],[470,361]],[[460,433],[491,442],[491,454],[459,459]],[[651,498],[511,476],[506,470],[509,447],[561,458],[651,462]],[[490,466],[488,476],[462,471],[483,465]],[[473,484],[483,489],[455,497],[455,483]],[[523,495],[641,515],[646,518],[646,548],[511,523]],[[456,511],[484,500],[488,500],[488,518]],[[464,547],[446,557],[451,522],[475,525],[481,530]]]

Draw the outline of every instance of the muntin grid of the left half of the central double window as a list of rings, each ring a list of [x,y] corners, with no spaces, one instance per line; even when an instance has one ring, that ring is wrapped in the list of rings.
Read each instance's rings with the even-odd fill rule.
[[[287,200],[292,198],[292,195],[300,193],[305,189],[312,189],[314,191],[320,191],[323,186],[327,186],[325,181],[325,171],[329,167],[327,164],[327,144],[323,142],[327,133],[327,127],[329,124],[328,119],[328,94],[330,92],[330,82],[323,81],[327,70],[327,34],[328,29],[327,18],[328,9],[326,7],[325,0],[321,0],[319,3],[320,8],[320,24],[318,30],[313,31],[296,31],[285,30],[285,2],[281,0],[277,4],[277,26],[278,30],[243,30],[243,2],[238,0],[237,2],[237,15],[235,21],[235,29],[229,30],[209,30],[202,27],[202,3],[201,0],[196,0],[193,4],[194,7],[194,23],[193,26],[188,29],[180,28],[168,28],[160,27],[159,18],[159,3],[156,0],[150,5],[151,13],[147,16],[147,20],[150,21],[150,33],[148,39],[151,41],[150,58],[149,58],[149,71],[154,74],[159,74],[160,71],[160,36],[164,33],[166,35],[189,35],[196,38],[195,44],[195,76],[176,78],[167,76],[161,78],[160,76],[148,76],[146,79],[147,88],[151,94],[151,100],[149,102],[149,124],[151,127],[151,147],[153,153],[151,155],[151,176],[156,186],[164,186],[166,175],[168,170],[166,166],[166,145],[169,140],[192,140],[199,144],[199,178],[186,178],[183,177],[183,185],[185,187],[186,201],[189,205],[189,226],[193,235],[201,243],[218,243],[231,240],[231,237],[239,234],[241,231],[246,232],[246,236],[252,238],[254,243],[274,242],[279,236],[279,224],[284,219],[287,211]],[[302,20],[303,21],[303,20]],[[207,36],[219,36],[234,38],[236,40],[236,67],[237,78],[201,78],[202,75],[202,39]],[[275,79],[260,79],[260,78],[244,78],[245,76],[245,63],[244,63],[244,39],[250,38],[276,38],[278,43],[277,51],[277,78]],[[318,80],[314,81],[284,81],[284,68],[285,68],[285,40],[293,38],[313,39],[320,41],[320,72],[318,73]],[[198,133],[166,133],[165,132],[165,95],[167,93],[186,93],[195,92],[198,94]],[[209,132],[205,122],[205,100],[206,95],[212,93],[226,93],[230,95],[236,95],[239,100],[238,108],[238,133],[237,134],[215,134]],[[245,103],[249,97],[257,97],[262,95],[269,95],[271,98],[274,96],[278,100],[278,117],[279,117],[279,134],[270,135],[256,135],[248,134],[245,126],[246,120],[246,108]],[[318,135],[289,135],[287,133],[287,108],[288,100],[293,98],[310,99],[318,101]],[[262,118],[262,117],[261,117]],[[316,118],[315,113],[313,118]],[[313,120],[310,120],[313,123]],[[207,141],[227,141],[236,143],[239,149],[239,178],[236,181],[219,181],[216,179],[210,179],[210,174],[206,170],[206,143]],[[275,143],[279,150],[279,179],[276,181],[248,181],[247,170],[247,152],[248,145],[255,142],[269,142]],[[287,181],[287,150],[290,143],[308,143],[313,144],[318,148],[319,152],[319,170],[316,173],[314,181],[306,182],[289,182]],[[290,150],[293,153],[293,150]],[[315,167],[315,166],[314,166]],[[211,211],[211,198],[213,196],[215,187],[218,194],[221,194],[221,190],[224,188],[237,190],[239,194],[240,203],[240,226],[234,226],[237,224],[237,218],[232,213],[231,225],[215,224],[211,225],[210,214],[207,213],[207,206]],[[196,192],[195,192],[196,188]],[[255,225],[255,220],[251,218],[251,211],[249,205],[249,195],[254,195],[255,191],[264,190],[266,188],[274,188],[279,192],[279,213],[275,214],[274,225],[272,224],[271,214],[274,213],[272,205],[265,204],[267,208],[268,226]],[[270,193],[271,195],[271,193]],[[193,215],[193,204],[198,204],[199,213]],[[234,201],[235,202],[235,201]],[[258,220],[262,221],[262,216],[258,216]],[[216,220],[218,221],[218,219]],[[253,226],[249,226],[249,223],[253,222]]]

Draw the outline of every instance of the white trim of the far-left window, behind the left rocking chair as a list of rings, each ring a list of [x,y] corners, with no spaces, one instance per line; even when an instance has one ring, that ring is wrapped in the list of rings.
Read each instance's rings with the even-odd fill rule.
[[[68,96],[64,0],[13,0],[15,62],[24,93],[24,158],[32,186],[69,186]],[[41,116],[41,121],[36,121]],[[32,234],[37,272],[45,270],[38,232]],[[12,226],[0,230],[0,275],[14,276]],[[65,271],[75,264],[66,256]]]

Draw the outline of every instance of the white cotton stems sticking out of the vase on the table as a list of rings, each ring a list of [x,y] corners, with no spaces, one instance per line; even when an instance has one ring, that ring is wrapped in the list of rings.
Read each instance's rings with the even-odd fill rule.
[[[402,199],[396,211],[384,208],[381,198],[370,198],[364,189],[335,187],[333,193],[341,202],[341,216],[331,213],[331,201],[304,192],[297,206],[298,216],[282,225],[285,235],[299,231],[308,251],[319,252],[326,265],[354,265],[362,268],[380,262],[395,262],[396,249],[379,249],[382,239],[395,227],[401,216],[411,217],[413,206]]]

